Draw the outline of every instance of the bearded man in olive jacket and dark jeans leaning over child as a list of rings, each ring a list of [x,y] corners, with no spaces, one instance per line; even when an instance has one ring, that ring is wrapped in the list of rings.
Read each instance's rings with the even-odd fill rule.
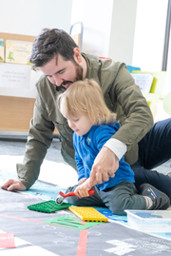
[[[7,181],[2,188],[25,190],[38,178],[40,166],[50,147],[54,128],[62,138],[62,155],[76,168],[72,130],[56,105],[59,93],[72,83],[93,78],[104,93],[106,106],[117,114],[121,128],[106,142],[95,159],[89,187],[114,177],[119,160],[125,154],[135,172],[136,187],[148,183],[171,199],[171,179],[151,171],[171,157],[171,120],[158,122],[153,118],[142,92],[123,63],[101,60],[81,53],[72,38],[63,30],[43,30],[35,39],[29,61],[33,69],[44,75],[36,85],[37,97],[28,133],[23,165],[17,165],[18,180]]]

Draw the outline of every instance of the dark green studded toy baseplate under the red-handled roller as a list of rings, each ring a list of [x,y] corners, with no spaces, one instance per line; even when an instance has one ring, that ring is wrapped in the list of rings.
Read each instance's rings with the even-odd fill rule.
[[[58,206],[56,205],[55,201],[49,200],[43,203],[30,205],[28,206],[28,209],[51,213],[68,207],[71,207],[71,204],[63,203],[62,205]]]

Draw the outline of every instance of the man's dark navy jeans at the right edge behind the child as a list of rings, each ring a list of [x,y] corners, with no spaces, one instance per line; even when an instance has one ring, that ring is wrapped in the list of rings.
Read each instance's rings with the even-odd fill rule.
[[[157,122],[139,142],[139,160],[132,165],[135,186],[149,183],[171,200],[171,178],[156,170],[171,158],[171,118]]]

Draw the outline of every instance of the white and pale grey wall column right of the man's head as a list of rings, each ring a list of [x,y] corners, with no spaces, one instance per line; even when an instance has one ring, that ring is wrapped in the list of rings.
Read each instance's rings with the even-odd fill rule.
[[[72,24],[84,24],[83,51],[132,63],[137,0],[73,0]]]

